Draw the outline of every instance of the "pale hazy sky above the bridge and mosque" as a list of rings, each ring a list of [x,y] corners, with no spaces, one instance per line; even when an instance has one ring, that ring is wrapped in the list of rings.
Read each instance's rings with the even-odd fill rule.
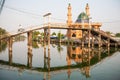
[[[75,22],[88,3],[91,22],[101,22],[101,29],[120,32],[120,0],[6,0],[0,14],[0,27],[9,32],[43,24],[43,15],[50,12],[51,22],[66,23],[68,4]]]

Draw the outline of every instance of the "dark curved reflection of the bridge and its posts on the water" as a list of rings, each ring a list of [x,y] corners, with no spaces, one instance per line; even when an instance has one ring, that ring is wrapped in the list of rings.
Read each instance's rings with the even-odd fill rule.
[[[72,46],[67,46],[68,48]],[[77,47],[76,47],[77,48]],[[9,61],[2,61],[0,60],[0,64],[2,65],[10,65],[13,68],[16,67],[18,69],[29,69],[30,71],[38,71],[38,72],[45,72],[48,73],[50,76],[52,74],[57,74],[61,72],[67,72],[68,76],[71,75],[72,71],[81,71],[81,73],[85,74],[86,77],[90,76],[90,69],[93,65],[96,65],[97,63],[103,61],[105,58],[110,57],[113,55],[117,50],[115,49],[93,49],[91,50],[90,48],[86,48],[86,51],[82,51],[82,56],[79,57],[79,59],[82,59],[81,63],[76,63],[76,64],[71,64],[71,61],[75,60],[69,53],[69,50],[67,49],[67,55],[66,55],[66,62],[67,64],[64,66],[57,66],[57,67],[50,67],[50,56],[46,59],[46,48],[44,48],[44,65],[42,67],[32,67],[32,56],[28,54],[28,61],[27,65],[19,64],[19,63],[13,63],[12,62],[12,55],[9,54]],[[85,49],[85,48],[84,48]],[[90,50],[89,50],[90,49]],[[76,53],[74,53],[76,54]],[[77,56],[77,54],[76,54]],[[52,58],[51,58],[52,59]],[[12,68],[11,67],[11,68]],[[17,69],[17,70],[18,70]],[[47,75],[46,75],[47,76]]]

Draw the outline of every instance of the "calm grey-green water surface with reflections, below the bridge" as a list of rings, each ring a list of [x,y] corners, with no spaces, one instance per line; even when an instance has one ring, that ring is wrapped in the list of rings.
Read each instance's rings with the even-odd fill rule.
[[[0,52],[0,80],[120,80],[120,52],[110,48],[14,42],[13,52]]]

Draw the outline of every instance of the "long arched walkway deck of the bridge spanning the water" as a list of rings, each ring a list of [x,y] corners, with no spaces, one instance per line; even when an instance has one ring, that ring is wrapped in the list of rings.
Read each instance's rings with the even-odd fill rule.
[[[79,24],[77,24],[77,25],[79,25]],[[85,28],[74,27],[74,26],[73,27],[68,27],[66,23],[51,23],[51,24],[44,24],[42,26],[31,27],[31,28],[28,28],[28,29],[26,29],[26,30],[24,30],[22,32],[10,33],[10,35],[2,37],[2,38],[0,38],[0,40],[6,39],[6,38],[9,38],[9,37],[14,37],[14,36],[17,36],[17,35],[20,35],[20,34],[28,33],[30,31],[41,30],[41,29],[48,29],[48,27],[50,27],[50,29],[71,29],[71,30],[88,30],[88,29],[90,29],[91,33],[93,35],[101,34],[101,38],[102,39],[108,39],[109,38],[110,42],[118,43],[117,40],[113,39],[110,35],[106,34],[104,31],[94,30],[94,29],[91,29],[91,28],[88,28],[88,27],[85,27]]]

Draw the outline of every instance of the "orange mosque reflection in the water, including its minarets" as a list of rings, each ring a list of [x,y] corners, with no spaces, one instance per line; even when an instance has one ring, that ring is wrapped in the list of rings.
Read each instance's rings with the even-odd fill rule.
[[[90,76],[90,50],[89,48],[81,48],[75,46],[67,47],[67,65],[70,66],[71,62],[74,61],[76,64],[84,64],[85,66],[81,68],[81,72],[86,75],[86,77]],[[68,69],[68,75],[70,76],[70,69]]]

